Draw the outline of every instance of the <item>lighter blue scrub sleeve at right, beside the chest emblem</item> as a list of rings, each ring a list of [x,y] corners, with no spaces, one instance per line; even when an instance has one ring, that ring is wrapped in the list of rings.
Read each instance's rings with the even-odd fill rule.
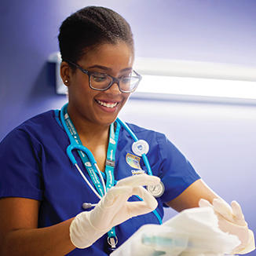
[[[165,186],[163,203],[179,196],[189,185],[198,180],[199,174],[175,146],[164,135],[159,137],[162,164],[159,176]]]

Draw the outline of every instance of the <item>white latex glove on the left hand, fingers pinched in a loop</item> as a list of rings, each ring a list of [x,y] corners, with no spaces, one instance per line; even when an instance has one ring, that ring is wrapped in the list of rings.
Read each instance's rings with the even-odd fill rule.
[[[82,212],[71,221],[71,242],[78,248],[90,247],[115,225],[155,210],[158,204],[155,197],[142,186],[158,185],[159,181],[159,177],[148,174],[130,176],[118,181],[93,210]],[[140,196],[143,201],[127,202],[133,195]]]

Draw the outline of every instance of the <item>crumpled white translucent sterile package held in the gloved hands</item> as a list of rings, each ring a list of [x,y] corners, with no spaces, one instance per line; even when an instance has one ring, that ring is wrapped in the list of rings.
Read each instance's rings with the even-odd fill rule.
[[[222,232],[210,207],[183,210],[163,225],[143,225],[112,256],[222,256],[240,244]]]

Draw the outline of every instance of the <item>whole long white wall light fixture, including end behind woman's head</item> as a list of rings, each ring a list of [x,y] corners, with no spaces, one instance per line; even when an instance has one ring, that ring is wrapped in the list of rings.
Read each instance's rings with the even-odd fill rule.
[[[60,79],[60,53],[49,56],[56,64],[56,91],[65,94]],[[188,60],[137,58],[142,75],[131,97],[192,101],[249,102],[256,104],[256,67]]]

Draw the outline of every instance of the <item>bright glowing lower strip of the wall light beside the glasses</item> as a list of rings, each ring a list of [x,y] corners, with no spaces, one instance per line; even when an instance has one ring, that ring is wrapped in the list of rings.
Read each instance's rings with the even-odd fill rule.
[[[143,75],[137,93],[256,99],[256,82]]]

